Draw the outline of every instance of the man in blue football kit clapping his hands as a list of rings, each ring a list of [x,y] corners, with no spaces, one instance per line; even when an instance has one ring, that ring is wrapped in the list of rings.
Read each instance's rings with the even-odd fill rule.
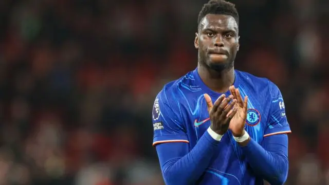
[[[239,15],[211,0],[198,16],[198,66],[170,82],[153,107],[166,184],[283,184],[289,124],[278,87],[234,70]],[[266,61],[264,61],[266,62]]]

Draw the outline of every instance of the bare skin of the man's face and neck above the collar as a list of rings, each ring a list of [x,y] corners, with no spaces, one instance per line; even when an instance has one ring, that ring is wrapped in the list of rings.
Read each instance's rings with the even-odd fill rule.
[[[229,90],[234,82],[234,59],[239,50],[239,32],[230,15],[207,14],[195,34],[198,73],[204,83],[218,93]],[[211,54],[223,52],[225,55]]]

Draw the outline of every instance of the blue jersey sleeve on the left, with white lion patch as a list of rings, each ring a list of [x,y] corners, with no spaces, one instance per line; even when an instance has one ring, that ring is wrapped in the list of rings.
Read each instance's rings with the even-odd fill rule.
[[[155,98],[152,122],[153,146],[166,142],[189,143],[186,128],[181,121],[179,104],[172,96],[167,96],[165,90]]]

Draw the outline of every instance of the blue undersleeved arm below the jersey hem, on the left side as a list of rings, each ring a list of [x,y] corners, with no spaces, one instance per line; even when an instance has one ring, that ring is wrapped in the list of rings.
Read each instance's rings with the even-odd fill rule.
[[[193,149],[184,156],[170,157],[167,154],[181,147],[188,147],[186,143],[164,143],[156,146],[163,178],[166,184],[193,184],[208,167],[213,153],[218,145],[208,132],[199,139]],[[169,152],[170,151],[170,152]]]

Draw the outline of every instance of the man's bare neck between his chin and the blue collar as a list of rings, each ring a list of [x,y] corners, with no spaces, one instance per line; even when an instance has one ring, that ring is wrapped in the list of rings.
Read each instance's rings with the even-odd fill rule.
[[[234,83],[234,67],[222,71],[210,69],[198,63],[197,72],[202,81],[213,91],[225,93]]]

